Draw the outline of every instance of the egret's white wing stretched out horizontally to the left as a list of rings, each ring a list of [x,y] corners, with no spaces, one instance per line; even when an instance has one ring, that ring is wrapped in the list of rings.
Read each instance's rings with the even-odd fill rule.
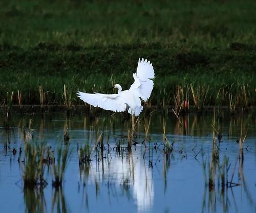
[[[98,106],[105,110],[114,112],[123,112],[126,109],[126,104],[123,102],[121,94],[101,94],[101,93],[84,93],[77,92],[78,97],[84,102]]]

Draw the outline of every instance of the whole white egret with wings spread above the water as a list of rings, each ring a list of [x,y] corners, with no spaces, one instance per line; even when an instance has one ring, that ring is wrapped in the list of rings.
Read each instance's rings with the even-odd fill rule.
[[[118,89],[117,94],[101,94],[101,93],[84,93],[78,91],[78,97],[84,102],[98,106],[105,110],[114,112],[123,112],[128,109],[132,115],[138,116],[143,109],[141,100],[146,101],[150,98],[155,78],[155,72],[150,61],[143,58],[138,62],[137,72],[133,74],[134,83],[129,90],[122,91],[119,84],[115,84],[114,88]]]

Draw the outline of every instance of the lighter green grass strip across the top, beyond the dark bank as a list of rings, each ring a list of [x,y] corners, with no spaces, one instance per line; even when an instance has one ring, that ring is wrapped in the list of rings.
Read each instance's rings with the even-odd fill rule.
[[[226,46],[255,42],[256,2],[1,1],[1,42],[109,45],[161,42]]]

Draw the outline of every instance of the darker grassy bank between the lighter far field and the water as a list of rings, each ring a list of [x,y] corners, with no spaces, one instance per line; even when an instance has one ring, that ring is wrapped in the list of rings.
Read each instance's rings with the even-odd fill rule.
[[[255,102],[256,47],[232,44],[227,49],[203,49],[199,46],[162,46],[161,44],[122,45],[102,48],[39,44],[23,50],[13,46],[0,53],[0,96],[7,99],[17,91],[23,104],[63,104],[63,85],[67,97],[77,104],[76,91],[112,92],[112,83],[128,89],[139,57],[151,59],[156,72],[151,103],[174,104],[177,86],[194,90],[208,89],[205,104],[228,105],[229,94],[240,96],[245,86],[248,105]],[[40,86],[40,88],[39,88]],[[209,88],[208,88],[209,86]],[[191,103],[193,97],[188,89]],[[203,91],[202,91],[203,92]],[[67,99],[68,99],[67,98]],[[81,103],[81,102],[80,102]]]

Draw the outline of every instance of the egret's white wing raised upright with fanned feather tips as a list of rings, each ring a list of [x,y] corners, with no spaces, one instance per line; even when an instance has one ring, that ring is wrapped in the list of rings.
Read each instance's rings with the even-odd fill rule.
[[[155,78],[154,68],[150,61],[143,58],[138,62],[137,73],[133,74],[134,83],[130,87],[137,92],[138,96],[146,101],[150,98],[153,90],[154,82],[151,80]]]

